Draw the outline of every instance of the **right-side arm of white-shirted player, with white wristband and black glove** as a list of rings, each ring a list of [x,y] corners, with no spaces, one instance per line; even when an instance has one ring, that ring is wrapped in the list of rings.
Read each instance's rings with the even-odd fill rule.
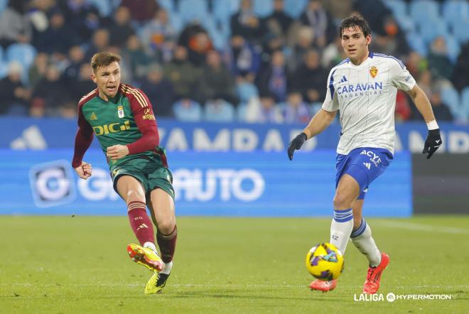
[[[435,116],[433,115],[430,101],[428,101],[426,94],[421,90],[419,85],[414,85],[414,87],[407,93],[414,101],[415,106],[419,109],[420,114],[424,117],[426,125],[428,126],[428,135],[426,137],[422,153],[426,153],[426,158],[430,159],[431,156],[433,156],[433,153],[435,153],[443,143],[441,140],[440,129],[436,123]]]

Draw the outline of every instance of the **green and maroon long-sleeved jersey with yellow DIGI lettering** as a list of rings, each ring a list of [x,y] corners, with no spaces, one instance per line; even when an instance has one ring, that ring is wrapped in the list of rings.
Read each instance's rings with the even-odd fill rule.
[[[168,167],[163,148],[159,147],[158,127],[151,103],[146,94],[131,85],[119,85],[119,92],[109,101],[93,90],[78,103],[78,131],[72,166],[82,163],[85,151],[93,136],[101,144],[104,154],[113,145],[126,145],[129,155],[117,161],[107,158],[109,168],[114,168],[133,158],[157,157]]]

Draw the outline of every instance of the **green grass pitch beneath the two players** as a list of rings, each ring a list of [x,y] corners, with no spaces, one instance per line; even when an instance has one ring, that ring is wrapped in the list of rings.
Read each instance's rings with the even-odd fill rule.
[[[0,313],[469,313],[468,216],[368,222],[391,257],[384,301],[354,301],[367,261],[352,243],[338,288],[309,291],[304,259],[329,219],[178,217],[173,274],[145,296],[126,217],[0,216]],[[452,299],[389,303],[390,292]]]

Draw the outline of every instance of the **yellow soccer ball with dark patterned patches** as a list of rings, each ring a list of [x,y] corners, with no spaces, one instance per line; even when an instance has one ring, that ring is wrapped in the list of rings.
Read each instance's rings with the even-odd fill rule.
[[[317,244],[306,254],[306,268],[319,280],[331,281],[342,274],[344,256],[334,244]]]

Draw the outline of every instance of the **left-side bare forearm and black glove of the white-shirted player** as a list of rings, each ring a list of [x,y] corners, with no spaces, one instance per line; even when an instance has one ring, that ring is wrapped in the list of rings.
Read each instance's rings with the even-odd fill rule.
[[[315,114],[313,118],[311,118],[308,126],[306,126],[303,132],[291,140],[289,149],[287,150],[289,159],[293,160],[293,153],[300,149],[307,139],[311,139],[311,137],[316,136],[317,134],[320,134],[320,132],[324,131],[334,120],[336,113],[337,110],[328,112],[324,109],[320,109],[319,112]]]

